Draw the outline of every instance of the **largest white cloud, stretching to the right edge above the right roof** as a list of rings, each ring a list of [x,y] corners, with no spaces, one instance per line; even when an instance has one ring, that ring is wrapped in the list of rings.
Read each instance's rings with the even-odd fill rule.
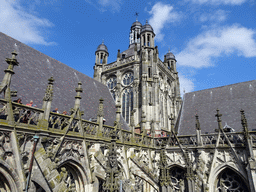
[[[238,25],[208,30],[190,40],[176,58],[179,65],[201,68],[212,66],[214,58],[224,55],[256,57],[255,34]]]

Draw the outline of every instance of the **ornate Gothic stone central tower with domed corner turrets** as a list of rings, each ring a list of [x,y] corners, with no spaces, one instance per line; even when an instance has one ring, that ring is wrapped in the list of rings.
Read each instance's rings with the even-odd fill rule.
[[[181,106],[175,56],[169,51],[161,61],[154,38],[152,26],[136,20],[128,49],[118,50],[116,61],[107,63],[108,49],[101,44],[94,66],[94,78],[108,86],[127,124],[148,135],[170,131],[171,119],[176,122]]]

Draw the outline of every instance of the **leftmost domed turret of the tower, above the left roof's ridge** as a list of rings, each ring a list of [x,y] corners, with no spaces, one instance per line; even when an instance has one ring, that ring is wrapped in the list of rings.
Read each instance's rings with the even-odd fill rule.
[[[104,45],[104,41],[100,44],[95,51],[95,66],[94,69],[94,79],[101,82],[101,73],[103,70],[103,65],[108,62],[108,48]]]

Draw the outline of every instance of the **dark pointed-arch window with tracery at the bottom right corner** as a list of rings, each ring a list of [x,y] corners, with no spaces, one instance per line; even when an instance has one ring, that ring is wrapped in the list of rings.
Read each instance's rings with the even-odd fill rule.
[[[243,179],[229,168],[224,169],[217,180],[216,192],[249,191]]]

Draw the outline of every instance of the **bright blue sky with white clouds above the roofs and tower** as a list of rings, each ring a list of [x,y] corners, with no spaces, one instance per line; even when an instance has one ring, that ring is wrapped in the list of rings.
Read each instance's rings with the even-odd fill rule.
[[[256,79],[255,0],[0,0],[0,31],[92,77],[103,39],[109,63],[128,48],[136,12],[182,93]]]

